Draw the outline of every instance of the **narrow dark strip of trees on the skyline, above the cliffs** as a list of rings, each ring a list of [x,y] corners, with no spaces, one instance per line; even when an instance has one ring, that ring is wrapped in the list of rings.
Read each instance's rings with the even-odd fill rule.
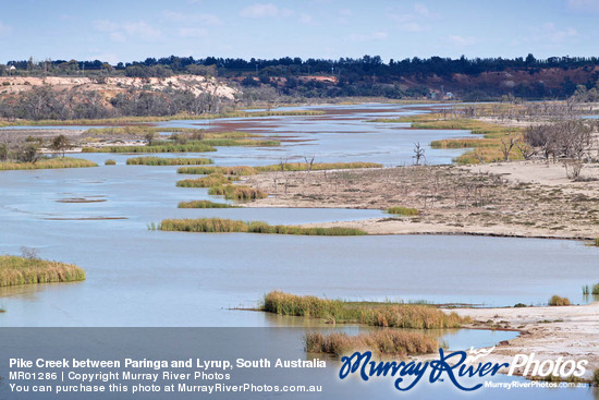
[[[402,75],[402,74],[437,74],[440,76],[451,75],[454,73],[463,73],[467,75],[479,74],[481,72],[505,71],[508,69],[573,69],[580,66],[599,65],[598,57],[550,57],[547,59],[536,59],[533,54],[526,58],[517,57],[514,59],[504,58],[474,58],[468,59],[462,56],[459,59],[431,57],[420,59],[418,57],[406,58],[403,60],[389,60],[383,62],[379,56],[364,56],[363,58],[340,58],[339,60],[326,59],[306,59],[300,57],[284,57],[280,59],[233,59],[233,58],[216,58],[207,57],[205,59],[195,59],[193,57],[164,57],[164,58],[147,58],[145,61],[119,62],[115,65],[110,65],[100,60],[94,61],[76,61],[76,60],[13,60],[7,63],[8,66],[15,66],[17,70],[34,70],[34,69],[63,69],[63,70],[80,70],[80,71],[136,71],[134,66],[146,69],[147,71],[161,74],[164,71],[170,73],[183,73],[193,71],[194,65],[210,66],[215,65],[218,73],[235,74],[239,72],[261,72],[266,71],[277,76],[282,74],[335,74],[335,73],[376,73],[379,77],[386,75]],[[163,69],[152,69],[154,66],[164,66]],[[197,70],[205,73],[203,69]]]

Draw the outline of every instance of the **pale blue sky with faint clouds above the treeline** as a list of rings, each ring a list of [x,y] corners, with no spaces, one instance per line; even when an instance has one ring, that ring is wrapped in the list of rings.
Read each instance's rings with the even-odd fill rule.
[[[0,63],[599,56],[599,0],[0,0]]]

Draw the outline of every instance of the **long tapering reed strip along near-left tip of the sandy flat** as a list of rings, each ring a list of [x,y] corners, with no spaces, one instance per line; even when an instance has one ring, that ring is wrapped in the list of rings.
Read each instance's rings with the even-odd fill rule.
[[[345,237],[360,235],[366,232],[350,228],[303,228],[295,226],[277,225],[266,222],[246,222],[224,218],[197,218],[197,219],[164,219],[158,226],[158,230],[197,232],[197,233],[270,233],[270,234],[300,234]]]

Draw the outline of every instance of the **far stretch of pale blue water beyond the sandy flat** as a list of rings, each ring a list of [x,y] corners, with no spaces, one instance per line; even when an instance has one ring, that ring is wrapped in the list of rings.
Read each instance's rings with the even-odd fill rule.
[[[325,110],[327,114],[169,121],[158,126],[237,130],[272,136],[283,143],[281,147],[252,149],[223,147],[209,154],[222,165],[278,163],[281,159],[304,161],[304,157],[315,156],[317,162],[364,161],[403,166],[413,163],[414,143],[417,142],[424,145],[426,162],[450,163],[464,149],[432,149],[430,142],[468,136],[468,131],[416,131],[407,129],[409,123],[367,122],[376,118],[425,112],[420,108],[404,105],[315,106],[300,109]]]

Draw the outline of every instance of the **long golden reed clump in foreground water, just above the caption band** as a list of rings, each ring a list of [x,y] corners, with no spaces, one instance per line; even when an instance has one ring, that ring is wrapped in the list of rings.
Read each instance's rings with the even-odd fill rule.
[[[459,328],[469,318],[424,304],[353,303],[340,300],[300,296],[280,291],[265,295],[262,311],[280,315],[306,316],[338,324],[365,324],[380,327],[438,329]]]

